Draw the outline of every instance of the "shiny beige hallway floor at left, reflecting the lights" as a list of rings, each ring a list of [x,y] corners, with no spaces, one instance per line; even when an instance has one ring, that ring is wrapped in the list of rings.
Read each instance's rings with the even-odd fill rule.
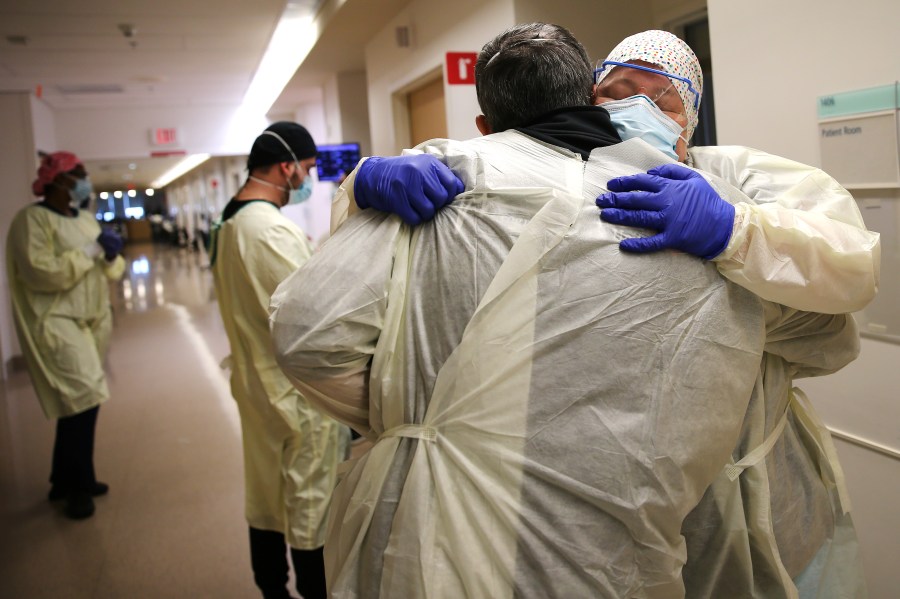
[[[94,458],[110,491],[93,517],[47,500],[55,421],[27,373],[0,388],[0,597],[256,597],[206,256],[146,244],[126,258]]]

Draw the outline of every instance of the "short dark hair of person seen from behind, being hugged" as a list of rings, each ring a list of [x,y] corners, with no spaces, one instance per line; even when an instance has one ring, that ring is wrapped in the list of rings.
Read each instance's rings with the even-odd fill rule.
[[[593,71],[566,28],[529,23],[484,45],[475,63],[478,104],[495,132],[569,106],[590,106]]]

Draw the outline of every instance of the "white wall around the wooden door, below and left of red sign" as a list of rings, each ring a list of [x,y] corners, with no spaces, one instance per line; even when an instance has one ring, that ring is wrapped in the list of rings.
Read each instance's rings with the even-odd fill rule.
[[[366,45],[369,121],[372,154],[399,153],[408,139],[397,135],[405,124],[395,115],[394,94],[408,90],[430,73],[443,72],[447,52],[478,52],[481,47],[515,23],[512,0],[414,0]],[[400,48],[395,29],[410,28],[409,48]],[[475,86],[444,87],[447,134],[454,139],[479,135]]]

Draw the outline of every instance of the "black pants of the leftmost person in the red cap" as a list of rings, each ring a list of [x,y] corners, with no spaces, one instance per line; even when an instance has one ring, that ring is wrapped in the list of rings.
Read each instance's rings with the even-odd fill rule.
[[[50,483],[71,493],[90,493],[94,475],[94,430],[100,406],[56,421]]]

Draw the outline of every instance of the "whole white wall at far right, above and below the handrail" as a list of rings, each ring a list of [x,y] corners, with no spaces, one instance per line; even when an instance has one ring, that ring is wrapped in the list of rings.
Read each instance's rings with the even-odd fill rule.
[[[900,78],[900,2],[709,0],[719,143],[819,166],[816,99]],[[882,272],[882,277],[897,277]],[[900,309],[900,308],[898,308]],[[826,423],[900,449],[900,345],[862,340],[859,359],[802,381]],[[900,462],[836,441],[873,598],[900,589]]]

